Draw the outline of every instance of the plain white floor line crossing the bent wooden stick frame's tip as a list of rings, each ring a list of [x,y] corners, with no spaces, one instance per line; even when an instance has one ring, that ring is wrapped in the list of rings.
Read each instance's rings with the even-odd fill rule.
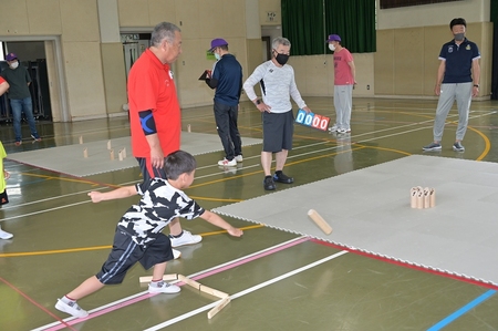
[[[294,276],[294,275],[297,275],[297,273],[307,271],[307,270],[309,270],[309,269],[311,269],[311,268],[313,268],[313,267],[320,266],[320,265],[322,265],[322,263],[324,263],[324,262],[328,262],[328,261],[330,261],[330,260],[333,260],[333,259],[335,259],[335,258],[338,258],[338,257],[340,257],[340,256],[343,256],[343,255],[346,254],[346,252],[347,252],[347,251],[342,250],[342,251],[336,252],[336,254],[334,254],[334,255],[331,255],[331,256],[329,256],[329,257],[326,257],[326,258],[323,258],[323,259],[321,259],[321,260],[318,260],[318,261],[314,261],[314,262],[312,262],[312,263],[310,263],[310,265],[307,265],[307,266],[304,266],[304,267],[301,267],[301,268],[299,268],[299,269],[289,271],[289,272],[287,272],[287,273],[283,273],[283,275],[279,276],[279,277],[272,278],[272,279],[267,280],[267,281],[264,281],[264,282],[261,282],[261,283],[259,283],[259,285],[257,285],[257,286],[253,286],[253,287],[251,287],[251,288],[248,288],[248,289],[246,289],[246,290],[243,290],[243,291],[240,291],[240,292],[238,292],[238,293],[235,293],[235,294],[230,296],[230,299],[237,299],[237,298],[243,297],[243,296],[246,296],[246,294],[249,294],[249,293],[251,293],[251,292],[255,292],[255,291],[257,291],[257,290],[260,290],[260,289],[262,289],[262,288],[264,288],[264,287],[267,287],[267,286],[270,286],[270,285],[272,285],[272,283],[276,283],[276,282],[278,282],[278,281],[280,281],[280,280],[283,280],[283,279],[289,278],[289,277],[291,277],[291,276]],[[214,308],[216,304],[218,304],[218,301],[217,301],[217,302],[214,302],[214,303],[206,304],[206,306],[200,307],[200,308],[198,308],[198,309],[196,309],[196,310],[193,310],[193,311],[190,311],[190,312],[184,313],[184,314],[181,314],[181,316],[179,316],[179,317],[176,317],[176,318],[174,318],[174,319],[170,319],[170,320],[168,320],[168,321],[165,321],[165,322],[163,322],[163,323],[160,323],[160,324],[157,324],[157,325],[155,325],[155,327],[145,329],[144,331],[156,331],[156,330],[164,329],[164,328],[166,328],[166,327],[169,327],[169,325],[173,325],[173,324],[175,324],[175,323],[178,323],[178,322],[180,322],[180,321],[183,321],[183,320],[186,320],[186,319],[188,319],[188,318],[190,318],[190,317],[193,317],[193,316],[196,316],[196,314],[198,314],[198,313],[200,313],[200,312],[203,312],[203,311],[207,311],[207,310]]]

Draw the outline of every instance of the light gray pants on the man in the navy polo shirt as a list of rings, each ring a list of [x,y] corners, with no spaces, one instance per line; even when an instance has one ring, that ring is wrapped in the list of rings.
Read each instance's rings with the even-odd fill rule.
[[[456,139],[463,141],[467,131],[468,112],[473,101],[473,82],[458,84],[443,84],[439,101],[437,102],[436,118],[434,120],[434,141],[440,142],[445,128],[446,117],[455,100],[458,107],[458,127]]]

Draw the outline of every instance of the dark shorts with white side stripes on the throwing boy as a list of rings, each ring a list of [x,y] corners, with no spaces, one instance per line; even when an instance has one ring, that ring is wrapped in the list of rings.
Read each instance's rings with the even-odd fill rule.
[[[156,240],[138,245],[132,236],[120,228],[114,235],[113,249],[102,266],[96,278],[105,285],[121,283],[136,262],[147,270],[157,263],[173,260],[172,241],[164,234],[158,234]]]

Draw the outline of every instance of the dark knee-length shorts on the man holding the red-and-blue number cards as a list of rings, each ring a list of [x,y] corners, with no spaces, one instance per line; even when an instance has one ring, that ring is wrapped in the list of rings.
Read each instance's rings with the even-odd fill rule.
[[[292,149],[294,134],[294,114],[292,110],[286,113],[262,113],[263,152],[278,153]]]

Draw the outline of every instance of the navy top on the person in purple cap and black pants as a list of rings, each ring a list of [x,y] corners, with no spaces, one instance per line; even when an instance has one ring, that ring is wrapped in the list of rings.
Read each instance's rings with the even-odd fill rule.
[[[215,102],[229,106],[238,105],[242,90],[242,66],[232,54],[225,54],[216,62],[212,79],[218,80]]]

